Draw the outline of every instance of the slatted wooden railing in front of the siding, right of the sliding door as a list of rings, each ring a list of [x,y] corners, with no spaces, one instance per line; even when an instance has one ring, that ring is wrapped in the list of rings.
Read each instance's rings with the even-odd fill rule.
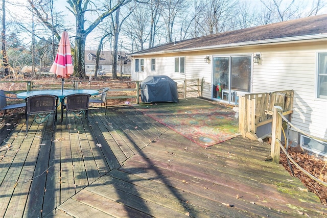
[[[249,93],[240,97],[239,131],[243,137],[258,139],[258,127],[272,122],[274,106],[280,106],[283,114],[292,113],[293,90],[270,93]]]

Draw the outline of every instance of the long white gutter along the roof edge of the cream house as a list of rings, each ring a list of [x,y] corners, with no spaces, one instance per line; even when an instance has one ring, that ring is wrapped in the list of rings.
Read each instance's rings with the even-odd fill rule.
[[[231,43],[231,44],[211,45],[211,46],[204,46],[204,47],[193,47],[193,48],[188,48],[188,49],[165,50],[165,51],[160,51],[160,52],[133,54],[133,55],[131,55],[131,57],[153,55],[153,54],[167,54],[167,53],[176,53],[176,52],[189,52],[189,51],[198,52],[198,51],[203,51],[203,50],[226,49],[228,47],[238,47],[238,46],[286,44],[288,42],[299,43],[299,42],[303,42],[303,41],[310,42],[310,41],[317,41],[317,39],[327,40],[327,33],[322,33],[322,34],[317,34],[317,35],[258,40],[258,41],[247,41],[247,42],[239,42],[239,43]],[[178,44],[178,42],[176,42],[176,44]]]

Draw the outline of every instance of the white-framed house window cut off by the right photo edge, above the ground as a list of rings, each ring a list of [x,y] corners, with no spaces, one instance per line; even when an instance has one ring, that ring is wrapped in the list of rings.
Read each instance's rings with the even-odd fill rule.
[[[317,97],[327,99],[327,53],[318,53]]]

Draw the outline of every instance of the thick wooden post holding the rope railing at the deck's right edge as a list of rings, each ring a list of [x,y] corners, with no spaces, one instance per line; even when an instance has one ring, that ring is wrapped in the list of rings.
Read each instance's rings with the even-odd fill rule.
[[[281,140],[282,136],[282,116],[278,114],[278,112],[283,112],[282,107],[274,106],[273,117],[272,117],[272,126],[271,126],[271,152],[270,155],[272,160],[275,163],[279,163],[279,153],[281,152],[281,147],[279,147],[276,139]]]

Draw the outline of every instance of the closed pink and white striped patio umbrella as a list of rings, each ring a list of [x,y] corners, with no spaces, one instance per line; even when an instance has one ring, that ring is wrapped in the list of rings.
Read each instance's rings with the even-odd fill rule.
[[[67,31],[62,32],[57,56],[50,68],[50,72],[53,72],[57,77],[61,78],[61,91],[63,91],[64,79],[69,78],[73,74],[71,42],[69,42]]]

